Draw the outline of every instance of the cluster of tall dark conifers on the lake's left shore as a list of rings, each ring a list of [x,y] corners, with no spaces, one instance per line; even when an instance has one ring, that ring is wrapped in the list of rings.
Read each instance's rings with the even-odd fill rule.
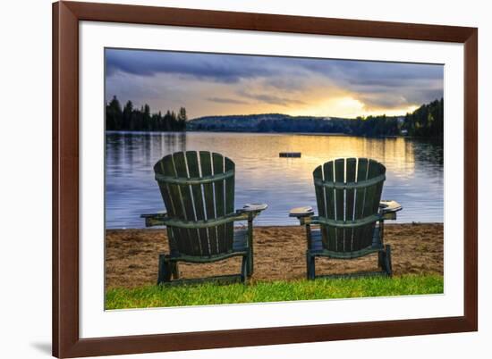
[[[130,131],[183,131],[186,129],[186,109],[181,107],[178,113],[167,111],[164,115],[150,113],[148,104],[135,109],[128,101],[122,105],[116,98],[106,104],[106,129]]]

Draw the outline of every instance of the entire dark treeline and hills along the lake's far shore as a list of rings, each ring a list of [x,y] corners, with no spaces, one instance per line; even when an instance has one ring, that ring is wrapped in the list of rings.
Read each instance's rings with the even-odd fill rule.
[[[282,113],[208,116],[187,121],[186,110],[150,113],[148,104],[140,110],[128,101],[122,110],[116,96],[106,104],[106,129],[136,131],[235,131],[235,132],[314,132],[354,136],[385,137],[408,135],[443,138],[444,99],[422,104],[405,116],[368,116],[356,119],[289,116]]]

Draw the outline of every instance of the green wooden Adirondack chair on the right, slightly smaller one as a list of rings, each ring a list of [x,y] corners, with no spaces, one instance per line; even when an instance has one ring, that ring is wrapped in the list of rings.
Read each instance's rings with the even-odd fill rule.
[[[394,201],[380,202],[386,167],[367,158],[337,159],[313,171],[318,216],[311,207],[294,208],[306,227],[308,279],[316,278],[315,258],[352,259],[378,254],[381,271],[330,275],[352,277],[362,275],[391,276],[391,247],[384,244],[384,221],[396,219],[402,206]],[[318,225],[318,229],[311,229]]]

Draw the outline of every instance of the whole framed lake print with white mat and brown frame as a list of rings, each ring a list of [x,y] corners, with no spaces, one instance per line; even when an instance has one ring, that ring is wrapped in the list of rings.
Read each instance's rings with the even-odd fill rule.
[[[53,15],[53,355],[477,330],[478,29]]]

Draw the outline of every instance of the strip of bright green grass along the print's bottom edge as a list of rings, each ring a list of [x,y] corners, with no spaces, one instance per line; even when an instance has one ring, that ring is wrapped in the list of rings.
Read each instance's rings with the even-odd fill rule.
[[[405,275],[391,279],[372,277],[255,282],[248,285],[204,283],[173,287],[147,286],[108,289],[106,309],[407,296],[437,294],[443,291],[444,280],[438,275]]]

